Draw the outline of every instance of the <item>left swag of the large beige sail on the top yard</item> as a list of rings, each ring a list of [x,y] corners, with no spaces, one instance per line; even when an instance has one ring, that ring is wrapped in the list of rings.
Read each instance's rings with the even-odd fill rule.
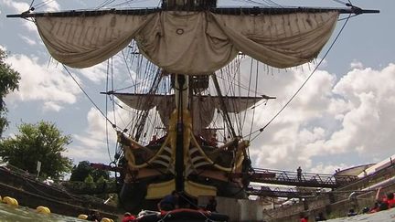
[[[155,15],[42,16],[37,30],[49,54],[73,68],[87,68],[125,48]]]

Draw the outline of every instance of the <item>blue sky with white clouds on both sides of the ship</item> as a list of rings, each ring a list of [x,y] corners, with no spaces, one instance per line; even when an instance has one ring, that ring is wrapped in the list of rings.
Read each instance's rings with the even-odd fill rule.
[[[94,8],[103,1],[49,1],[38,10]],[[113,5],[116,5],[116,1]],[[246,1],[220,1],[240,5]],[[255,1],[262,2],[262,1]],[[336,6],[334,1],[276,1],[282,5]],[[35,1],[34,5],[41,1]],[[73,143],[65,153],[77,164],[82,160],[109,163],[105,122],[91,102],[50,60],[35,26],[23,19],[5,18],[27,10],[30,2],[0,0],[0,46],[9,52],[7,62],[22,75],[20,90],[6,97],[10,127],[21,122],[56,122],[70,134]],[[296,99],[251,144],[254,166],[333,173],[337,168],[376,163],[394,154],[395,144],[395,1],[354,1],[355,5],[379,9],[380,14],[351,18],[324,64]],[[131,1],[132,6],[157,5],[156,1]],[[338,22],[334,36],[343,22]],[[333,38],[329,41],[331,41]],[[329,44],[328,44],[329,45]],[[327,45],[327,46],[328,46]],[[324,52],[318,58],[322,58]],[[263,126],[293,95],[314,65],[287,72],[262,73],[261,91],[276,96],[260,111],[257,125]],[[73,70],[101,110],[105,98],[105,64]],[[110,113],[111,115],[111,113]],[[113,155],[114,133],[110,130]]]

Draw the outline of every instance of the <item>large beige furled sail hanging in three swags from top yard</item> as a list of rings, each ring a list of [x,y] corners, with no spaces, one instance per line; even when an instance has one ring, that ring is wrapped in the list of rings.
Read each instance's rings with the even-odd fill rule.
[[[330,37],[338,12],[219,15],[159,11],[121,15],[37,16],[51,56],[73,68],[91,67],[134,39],[144,56],[171,73],[199,75],[227,65],[241,51],[276,68],[315,58]]]

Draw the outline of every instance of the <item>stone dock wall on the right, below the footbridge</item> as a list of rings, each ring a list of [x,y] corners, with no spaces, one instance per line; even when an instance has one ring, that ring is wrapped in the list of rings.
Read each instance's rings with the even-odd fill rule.
[[[354,208],[361,212],[365,206],[371,207],[375,203],[376,192],[359,193],[355,198],[349,198],[354,191],[362,190],[371,185],[395,175],[395,165],[383,169],[377,174],[368,176],[356,183],[343,186],[334,192],[320,193],[315,197],[306,198],[292,206],[280,206],[275,209],[264,210],[260,201],[248,199],[232,199],[217,197],[217,210],[226,214],[230,221],[272,221],[289,222],[299,221],[300,216],[309,217],[309,221],[315,221],[315,216],[323,213],[326,218],[347,217],[348,210]],[[388,192],[395,192],[395,184],[383,187],[381,196]],[[198,200],[199,206],[206,206],[208,196],[201,196]]]

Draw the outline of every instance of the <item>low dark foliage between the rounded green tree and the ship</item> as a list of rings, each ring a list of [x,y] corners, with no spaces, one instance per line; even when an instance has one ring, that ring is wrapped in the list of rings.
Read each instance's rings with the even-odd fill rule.
[[[91,175],[93,181],[98,182],[98,180],[103,177],[103,179],[108,180],[110,174],[107,171],[95,169],[91,167],[89,161],[81,161],[77,166],[74,166],[71,170],[70,181],[85,181],[85,179]]]

